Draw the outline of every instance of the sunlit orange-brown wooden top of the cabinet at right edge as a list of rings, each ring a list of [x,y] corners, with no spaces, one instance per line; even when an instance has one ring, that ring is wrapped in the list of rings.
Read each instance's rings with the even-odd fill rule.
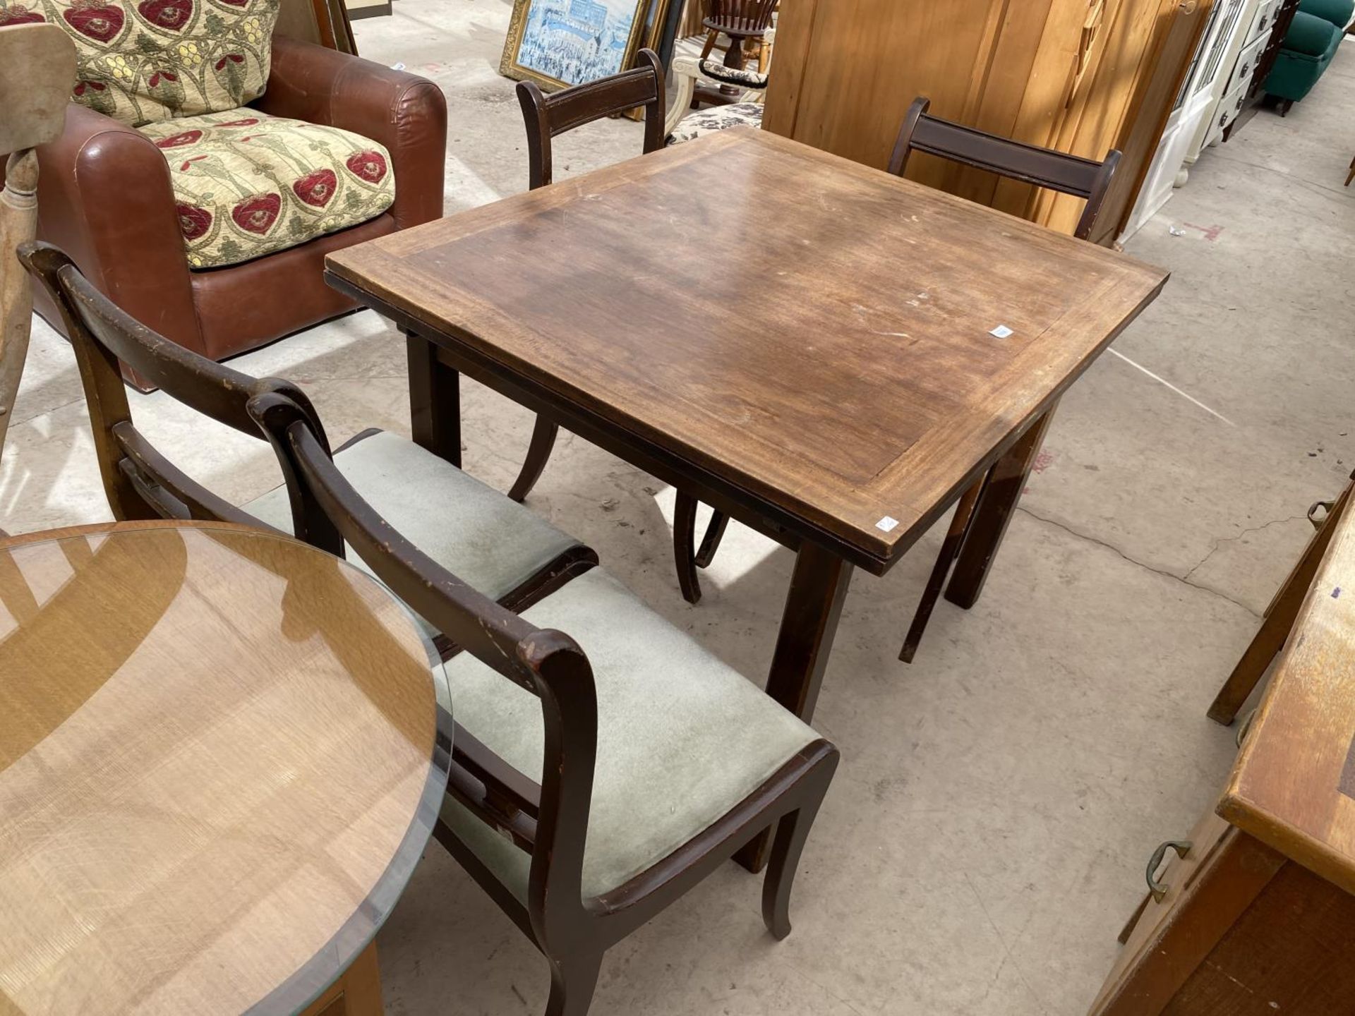
[[[1346,512],[1218,811],[1355,893],[1355,515]]]

